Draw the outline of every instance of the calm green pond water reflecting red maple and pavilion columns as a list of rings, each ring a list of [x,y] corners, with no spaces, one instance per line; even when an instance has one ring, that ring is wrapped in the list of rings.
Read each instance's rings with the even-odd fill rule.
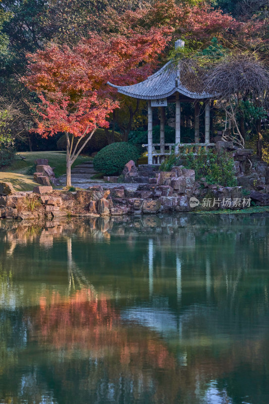
[[[269,403],[269,216],[0,222],[0,403]]]

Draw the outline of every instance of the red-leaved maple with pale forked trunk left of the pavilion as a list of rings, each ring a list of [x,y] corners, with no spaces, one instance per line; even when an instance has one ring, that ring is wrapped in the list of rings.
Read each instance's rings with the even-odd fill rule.
[[[119,107],[115,91],[105,83],[144,79],[168,40],[163,28],[111,38],[92,34],[73,47],[52,44],[28,54],[29,73],[23,80],[39,97],[33,130],[44,137],[66,134],[67,186],[71,186],[72,164],[95,130],[109,126],[107,117]]]

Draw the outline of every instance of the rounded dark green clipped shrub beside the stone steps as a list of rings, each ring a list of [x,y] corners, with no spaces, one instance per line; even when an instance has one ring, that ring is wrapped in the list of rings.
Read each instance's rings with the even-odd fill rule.
[[[105,175],[117,175],[122,172],[128,161],[133,160],[136,163],[138,157],[138,150],[133,144],[112,143],[98,151],[93,159],[93,167]]]

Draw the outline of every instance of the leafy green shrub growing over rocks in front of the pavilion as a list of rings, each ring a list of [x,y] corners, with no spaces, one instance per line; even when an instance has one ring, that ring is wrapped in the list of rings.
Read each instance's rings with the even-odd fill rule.
[[[205,177],[208,184],[236,186],[234,160],[225,150],[201,150],[185,155],[184,166],[195,171],[196,179]]]

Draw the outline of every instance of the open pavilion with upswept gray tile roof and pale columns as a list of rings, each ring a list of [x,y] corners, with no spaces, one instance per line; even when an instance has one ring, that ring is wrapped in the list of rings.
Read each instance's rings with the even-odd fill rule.
[[[178,39],[175,42],[175,48],[183,47],[184,41]],[[171,154],[172,146],[175,146],[175,153],[178,153],[179,147],[183,145],[211,146],[209,138],[210,130],[210,99],[216,97],[216,94],[208,92],[193,92],[188,90],[180,80],[180,66],[175,68],[173,60],[168,62],[156,73],[149,76],[141,83],[118,86],[107,82],[112,87],[117,88],[118,92],[129,95],[133,98],[146,99],[148,105],[148,142],[144,146],[148,150],[148,164],[159,164],[166,155]],[[191,102],[195,105],[195,143],[180,143],[180,114],[182,102]],[[199,102],[204,103],[205,119],[205,142],[200,143],[200,109]],[[165,143],[165,107],[168,103],[176,103],[176,136],[175,143]],[[160,108],[160,142],[152,143],[152,107]],[[159,150],[155,147],[159,146]],[[169,146],[169,153],[166,153],[165,147]]]

